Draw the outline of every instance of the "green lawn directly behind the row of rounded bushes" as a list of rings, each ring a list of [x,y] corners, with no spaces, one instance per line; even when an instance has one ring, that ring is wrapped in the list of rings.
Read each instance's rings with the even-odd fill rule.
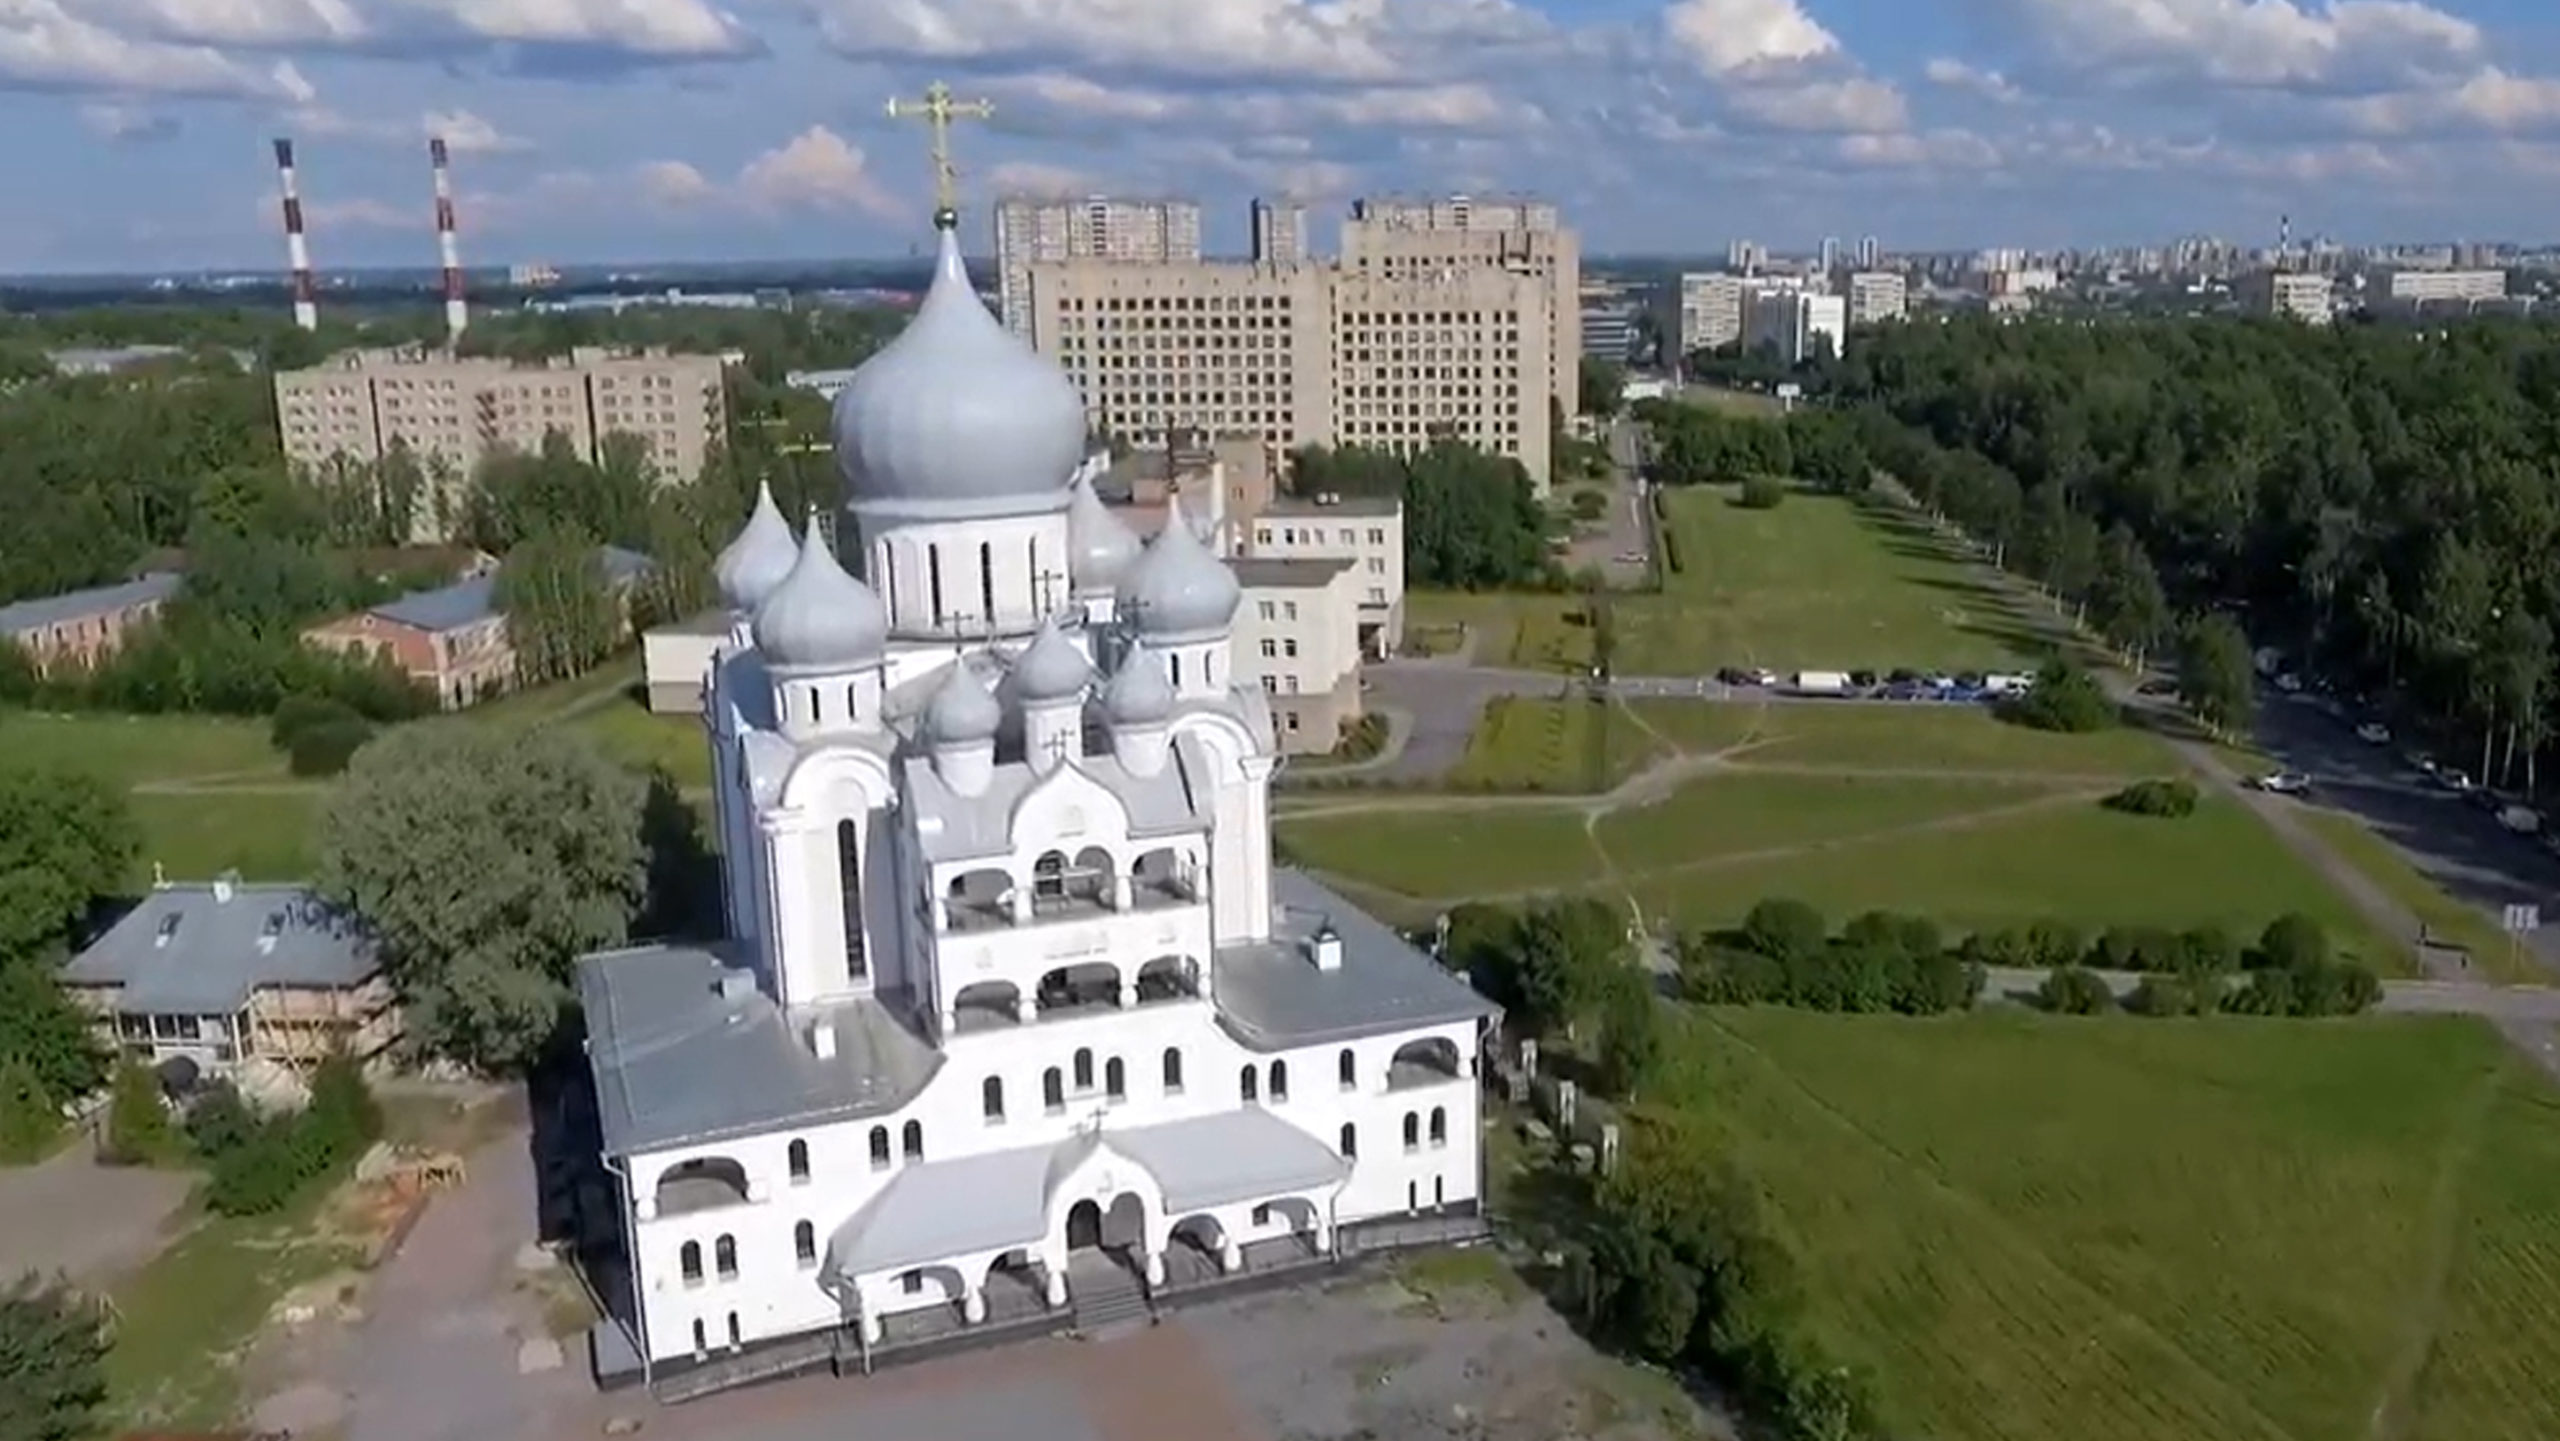
[[[1638,878],[1649,914],[1725,927],[1754,901],[1795,896],[1848,919],[1869,909],[1933,916],[1948,932],[2061,919],[2112,924],[2220,924],[2255,937],[2284,911],[2319,919],[2340,950],[2383,975],[2406,975],[2401,947],[2276,840],[2237,801],[2207,799],[2186,819],[2107,811],[2094,801],[1979,824],[1836,845],[1810,855],[1710,865]]]

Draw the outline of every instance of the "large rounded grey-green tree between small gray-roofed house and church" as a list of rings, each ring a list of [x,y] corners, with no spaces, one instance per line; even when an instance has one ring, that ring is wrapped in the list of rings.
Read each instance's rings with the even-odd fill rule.
[[[561,729],[397,729],[330,796],[317,883],[379,937],[415,1042],[517,1070],[576,957],[640,914],[643,806],[637,776]]]

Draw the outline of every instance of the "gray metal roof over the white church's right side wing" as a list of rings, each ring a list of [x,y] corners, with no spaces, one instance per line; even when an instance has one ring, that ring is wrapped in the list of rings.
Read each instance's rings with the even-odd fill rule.
[[[1306,873],[1272,870],[1272,939],[1219,947],[1219,1021],[1252,1049],[1306,1047],[1498,1016],[1472,985]],[[1308,939],[1334,927],[1341,967],[1316,970]]]

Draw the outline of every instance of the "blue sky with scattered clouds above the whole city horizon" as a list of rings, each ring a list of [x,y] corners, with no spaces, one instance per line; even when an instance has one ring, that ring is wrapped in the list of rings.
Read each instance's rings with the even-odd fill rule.
[[[996,189],[1536,189],[1592,251],[2560,233],[2552,0],[0,0],[0,271],[896,256]],[[983,207],[980,207],[983,215]],[[983,230],[970,230],[983,246]]]

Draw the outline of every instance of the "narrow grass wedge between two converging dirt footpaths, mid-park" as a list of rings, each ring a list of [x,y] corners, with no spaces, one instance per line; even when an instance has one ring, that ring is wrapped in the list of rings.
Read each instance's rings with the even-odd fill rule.
[[[1620,870],[1672,870],[1761,850],[1815,847],[1997,811],[2045,796],[1997,781],[1900,776],[1774,776],[1733,770],[1690,781],[1667,801],[1613,811],[1600,847]]]

